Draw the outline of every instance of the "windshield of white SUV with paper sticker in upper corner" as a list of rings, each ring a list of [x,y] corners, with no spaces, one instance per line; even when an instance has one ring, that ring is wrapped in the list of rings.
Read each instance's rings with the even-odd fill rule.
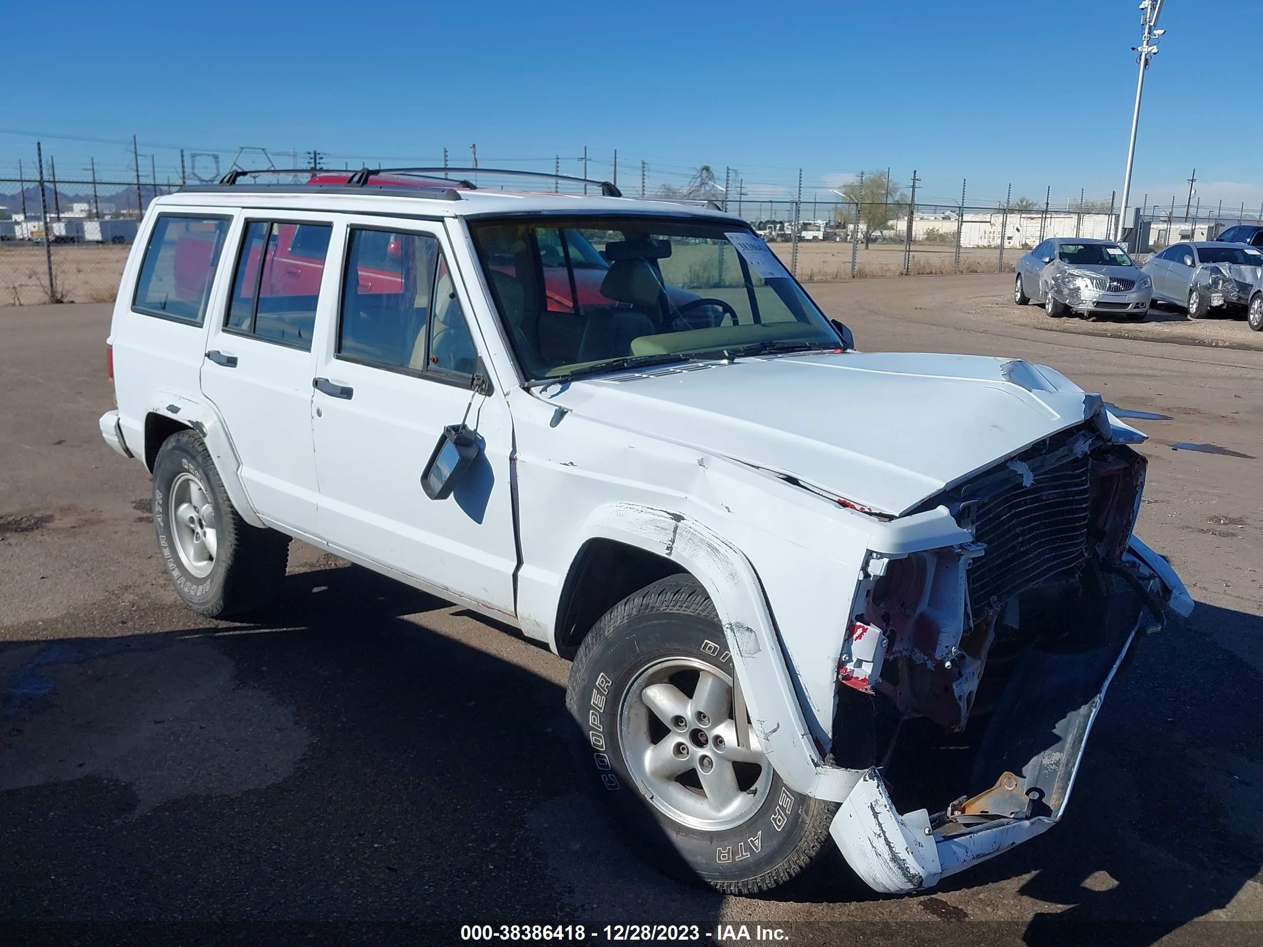
[[[628,361],[837,348],[829,319],[744,225],[643,216],[471,220],[530,380]]]

